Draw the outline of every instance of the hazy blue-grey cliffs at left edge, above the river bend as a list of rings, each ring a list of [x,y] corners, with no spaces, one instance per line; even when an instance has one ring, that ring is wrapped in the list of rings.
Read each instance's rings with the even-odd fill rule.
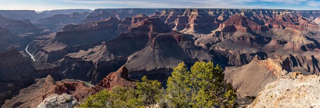
[[[11,47],[22,51],[38,35],[47,34],[49,31],[39,29],[26,20],[12,20],[0,14],[0,51]]]

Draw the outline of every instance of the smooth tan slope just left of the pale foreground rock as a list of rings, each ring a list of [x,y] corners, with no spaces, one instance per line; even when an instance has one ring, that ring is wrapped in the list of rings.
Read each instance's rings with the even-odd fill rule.
[[[250,63],[242,67],[225,68],[225,79],[237,89],[238,97],[257,96],[269,82],[290,70],[288,60],[259,60],[256,56]]]

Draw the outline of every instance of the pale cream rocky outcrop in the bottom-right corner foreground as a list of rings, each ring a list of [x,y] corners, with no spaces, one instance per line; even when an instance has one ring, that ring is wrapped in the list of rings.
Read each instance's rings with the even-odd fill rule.
[[[319,80],[299,72],[281,76],[267,84],[248,107],[319,107]]]

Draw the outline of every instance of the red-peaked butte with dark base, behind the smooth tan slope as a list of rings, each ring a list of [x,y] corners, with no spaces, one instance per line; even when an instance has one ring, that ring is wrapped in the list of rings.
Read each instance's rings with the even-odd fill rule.
[[[265,59],[262,46],[268,37],[255,31],[262,31],[259,24],[248,17],[237,14],[227,19],[213,33],[200,37],[195,44],[212,50],[222,66],[242,66],[249,63],[255,55]]]

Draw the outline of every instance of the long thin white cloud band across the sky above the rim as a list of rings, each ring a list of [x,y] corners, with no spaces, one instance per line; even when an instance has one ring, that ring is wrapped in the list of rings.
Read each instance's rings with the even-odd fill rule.
[[[80,4],[112,4],[133,7],[146,8],[268,8],[266,6],[246,5],[244,3],[251,2],[250,0],[105,0],[105,1],[84,1],[84,0],[56,0],[65,3],[80,3]]]

